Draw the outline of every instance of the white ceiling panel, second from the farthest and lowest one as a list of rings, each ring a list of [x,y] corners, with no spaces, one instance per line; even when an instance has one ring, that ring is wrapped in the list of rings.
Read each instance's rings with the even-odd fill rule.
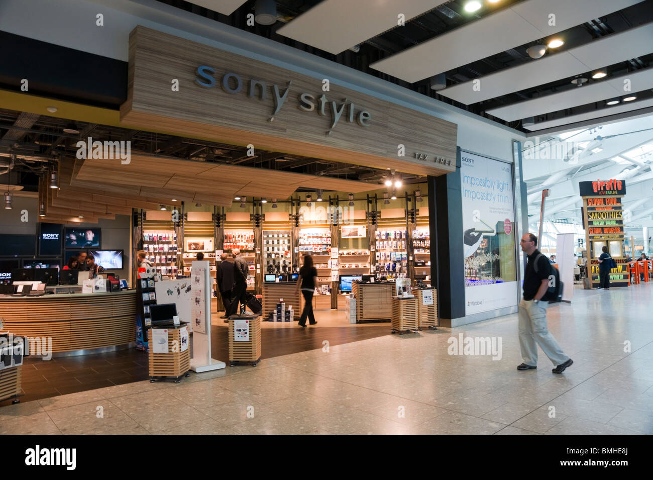
[[[631,72],[610,80],[545,95],[537,99],[492,108],[487,110],[487,113],[505,121],[515,121],[586,103],[607,100],[624,95],[623,86],[626,79],[631,81],[631,91],[633,92],[653,88],[653,68]]]

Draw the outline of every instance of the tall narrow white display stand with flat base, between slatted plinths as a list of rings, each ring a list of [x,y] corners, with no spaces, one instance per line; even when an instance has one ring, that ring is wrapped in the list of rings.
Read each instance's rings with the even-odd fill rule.
[[[211,272],[208,261],[191,266],[191,324],[193,325],[193,372],[225,368],[225,362],[211,358]]]

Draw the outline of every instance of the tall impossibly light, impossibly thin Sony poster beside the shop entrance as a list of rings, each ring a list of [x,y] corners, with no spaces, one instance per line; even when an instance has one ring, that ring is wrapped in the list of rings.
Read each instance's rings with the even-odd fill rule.
[[[512,168],[461,152],[466,315],[518,302]]]

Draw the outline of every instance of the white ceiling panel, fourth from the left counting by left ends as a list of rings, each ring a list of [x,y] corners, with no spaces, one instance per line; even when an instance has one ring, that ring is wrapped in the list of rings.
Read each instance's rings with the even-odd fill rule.
[[[651,52],[653,52],[653,22],[594,40],[576,48],[570,48],[559,54],[547,54],[541,59],[483,76],[479,91],[474,91],[473,80],[470,80],[445,88],[438,93],[469,105],[613,65]]]

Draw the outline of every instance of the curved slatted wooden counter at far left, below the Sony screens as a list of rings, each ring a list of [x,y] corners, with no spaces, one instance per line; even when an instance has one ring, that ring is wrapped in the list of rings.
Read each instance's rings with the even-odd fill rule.
[[[136,291],[0,296],[3,332],[52,337],[52,353],[135,342]]]

